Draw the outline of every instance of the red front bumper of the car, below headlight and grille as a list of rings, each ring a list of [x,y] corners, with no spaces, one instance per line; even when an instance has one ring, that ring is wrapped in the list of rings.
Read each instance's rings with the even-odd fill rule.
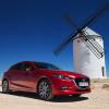
[[[52,80],[52,93],[53,95],[74,95],[74,94],[86,94],[90,93],[90,86],[80,87],[75,80]]]

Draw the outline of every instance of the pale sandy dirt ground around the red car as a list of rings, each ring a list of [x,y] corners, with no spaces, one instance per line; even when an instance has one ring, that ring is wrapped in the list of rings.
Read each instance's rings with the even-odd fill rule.
[[[0,109],[109,109],[107,85],[109,81],[94,81],[90,94],[80,98],[56,97],[51,101],[39,100],[35,94],[2,94],[0,87]]]

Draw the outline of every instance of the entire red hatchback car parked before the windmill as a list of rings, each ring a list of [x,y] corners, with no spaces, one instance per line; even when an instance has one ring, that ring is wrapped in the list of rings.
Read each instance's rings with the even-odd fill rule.
[[[86,75],[61,71],[44,62],[23,61],[12,65],[3,75],[2,92],[15,90],[37,93],[40,99],[53,96],[80,96],[90,92]]]

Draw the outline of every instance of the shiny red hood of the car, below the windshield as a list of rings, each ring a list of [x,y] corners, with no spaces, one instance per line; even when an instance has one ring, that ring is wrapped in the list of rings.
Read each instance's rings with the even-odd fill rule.
[[[84,74],[77,73],[77,72],[70,72],[70,71],[60,71],[60,70],[43,70],[45,73],[49,74],[62,74],[64,76],[70,76],[70,77],[87,77]]]

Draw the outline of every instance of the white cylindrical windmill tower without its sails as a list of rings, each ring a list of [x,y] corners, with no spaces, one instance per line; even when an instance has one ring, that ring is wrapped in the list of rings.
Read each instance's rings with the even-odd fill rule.
[[[93,48],[93,45],[90,46],[88,40],[85,40],[84,37],[74,39],[74,69],[76,72],[86,74],[92,78],[107,77],[102,37],[87,27],[85,32],[88,34],[88,40],[93,43],[97,49]],[[102,56],[97,50],[101,51]]]

